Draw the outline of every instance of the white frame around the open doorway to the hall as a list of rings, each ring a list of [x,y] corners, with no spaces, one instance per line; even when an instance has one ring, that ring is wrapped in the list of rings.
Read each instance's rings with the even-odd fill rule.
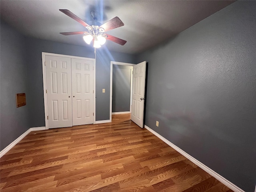
[[[111,61],[110,62],[110,112],[109,112],[109,119],[110,122],[112,122],[112,91],[113,91],[113,65],[125,65],[125,66],[134,66],[136,64],[132,63],[124,63],[124,62],[116,62]],[[132,73],[131,73],[131,84],[130,84],[130,100],[132,99]],[[131,101],[130,101],[130,112],[131,112]]]

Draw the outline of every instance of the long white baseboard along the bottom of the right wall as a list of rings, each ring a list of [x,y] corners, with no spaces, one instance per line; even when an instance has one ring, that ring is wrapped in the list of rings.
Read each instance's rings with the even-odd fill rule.
[[[235,184],[233,184],[232,182],[230,182],[229,180],[227,180],[226,178],[222,177],[220,174],[216,173],[214,170],[210,169],[209,167],[207,167],[206,165],[202,164],[200,161],[196,160],[194,157],[190,156],[189,154],[187,154],[186,152],[184,152],[182,149],[180,149],[179,147],[177,147],[176,145],[174,145],[172,142],[168,141],[166,138],[164,138],[163,136],[161,136],[160,134],[158,134],[157,132],[155,132],[154,130],[150,129],[148,126],[144,126],[147,130],[149,130],[150,132],[152,132],[152,134],[154,134],[155,136],[157,136],[158,138],[160,138],[163,142],[165,142],[166,144],[168,144],[169,146],[171,146],[172,148],[174,148],[176,151],[178,151],[180,154],[182,154],[183,156],[185,156],[186,158],[188,158],[188,160],[192,161],[194,164],[196,164],[198,167],[202,168],[204,171],[206,171],[208,174],[210,174],[211,176],[213,176],[214,178],[216,178],[217,180],[219,180],[220,182],[222,182],[224,185],[226,185],[228,188],[230,188],[231,190],[235,191],[235,192],[244,192],[244,190],[240,189],[238,186],[236,186]]]

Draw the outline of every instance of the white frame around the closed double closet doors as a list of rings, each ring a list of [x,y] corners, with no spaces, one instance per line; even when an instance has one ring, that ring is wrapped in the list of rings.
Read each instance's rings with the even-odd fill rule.
[[[72,58],[74,59],[88,59],[86,57],[78,57],[78,56],[71,56],[71,55],[62,55],[62,54],[55,54],[55,53],[47,53],[47,52],[42,52],[42,70],[43,70],[43,88],[44,88],[44,120],[45,120],[45,129],[49,129],[48,126],[48,120],[47,120],[47,116],[48,116],[48,107],[47,107],[47,94],[46,94],[46,66],[45,66],[45,56],[49,55],[49,56],[58,56],[58,57],[68,57],[70,58],[70,60]],[[96,63],[96,59],[94,58],[90,58],[92,59],[93,62],[93,124],[95,124],[96,121],[96,68],[95,68],[95,63]]]

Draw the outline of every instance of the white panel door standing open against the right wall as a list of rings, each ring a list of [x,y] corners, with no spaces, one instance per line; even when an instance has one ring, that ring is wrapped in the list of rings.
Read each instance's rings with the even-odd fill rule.
[[[133,66],[131,119],[143,128],[146,61]]]

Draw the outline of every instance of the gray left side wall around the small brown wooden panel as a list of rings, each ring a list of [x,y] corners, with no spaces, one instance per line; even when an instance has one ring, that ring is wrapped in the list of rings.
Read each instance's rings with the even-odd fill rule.
[[[17,93],[29,96],[25,38],[2,21],[0,36],[0,150],[3,150],[30,126],[28,105],[16,108]]]

